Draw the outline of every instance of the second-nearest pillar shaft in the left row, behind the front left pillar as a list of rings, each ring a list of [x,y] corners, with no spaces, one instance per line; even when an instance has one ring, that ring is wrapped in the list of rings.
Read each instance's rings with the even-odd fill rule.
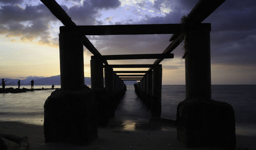
[[[103,62],[101,59],[91,59],[91,86],[92,89],[104,88]]]

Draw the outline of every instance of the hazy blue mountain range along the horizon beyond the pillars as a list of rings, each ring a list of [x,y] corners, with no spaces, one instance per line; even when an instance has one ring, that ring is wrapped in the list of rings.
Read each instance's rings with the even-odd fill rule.
[[[29,76],[24,80],[20,80],[21,85],[30,85],[30,81],[34,80],[34,85],[60,85],[60,75],[51,76],[51,77],[38,77],[38,76]],[[6,85],[17,85],[18,79],[8,79],[5,78]],[[137,81],[124,81],[125,84],[131,85],[137,83]],[[0,82],[2,85],[2,83]],[[84,77],[84,84],[91,85],[91,78]]]

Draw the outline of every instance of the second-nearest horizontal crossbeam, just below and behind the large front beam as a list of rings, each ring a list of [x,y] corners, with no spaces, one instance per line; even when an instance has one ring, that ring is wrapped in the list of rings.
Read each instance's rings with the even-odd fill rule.
[[[102,55],[91,56],[91,59],[99,58],[102,60],[121,60],[121,59],[164,59],[174,58],[174,54],[130,54],[130,55]]]

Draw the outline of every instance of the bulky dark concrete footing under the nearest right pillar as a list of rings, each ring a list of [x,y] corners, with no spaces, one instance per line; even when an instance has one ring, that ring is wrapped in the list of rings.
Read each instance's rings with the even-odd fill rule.
[[[177,109],[177,139],[186,147],[236,147],[234,111],[226,102],[187,99]]]

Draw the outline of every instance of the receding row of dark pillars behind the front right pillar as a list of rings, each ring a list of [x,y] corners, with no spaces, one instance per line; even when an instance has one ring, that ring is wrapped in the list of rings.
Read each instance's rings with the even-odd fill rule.
[[[151,108],[152,117],[161,116],[162,99],[162,65],[157,65],[153,71],[147,74],[138,82],[136,93]]]

